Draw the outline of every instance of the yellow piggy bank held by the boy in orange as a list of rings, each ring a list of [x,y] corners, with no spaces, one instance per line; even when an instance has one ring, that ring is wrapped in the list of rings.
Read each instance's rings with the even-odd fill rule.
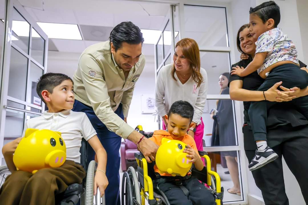
[[[156,166],[160,173],[169,173],[172,176],[185,176],[192,167],[187,153],[183,153],[187,145],[179,140],[163,138],[156,153]]]

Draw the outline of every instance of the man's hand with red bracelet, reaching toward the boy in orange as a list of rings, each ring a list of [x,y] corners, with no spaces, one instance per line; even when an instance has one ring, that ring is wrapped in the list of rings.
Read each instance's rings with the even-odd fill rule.
[[[137,144],[140,139],[142,138],[142,134],[133,131],[127,139],[132,141],[133,143]],[[158,145],[155,144],[153,141],[149,140],[148,138],[144,137],[144,140],[141,140],[139,144],[137,145],[138,150],[144,155],[145,159],[151,163],[152,161],[155,161],[156,152],[158,149]]]

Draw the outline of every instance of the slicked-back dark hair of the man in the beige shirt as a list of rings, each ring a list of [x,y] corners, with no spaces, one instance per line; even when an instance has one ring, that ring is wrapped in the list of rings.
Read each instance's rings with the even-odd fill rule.
[[[116,25],[112,29],[109,39],[115,46],[115,51],[121,48],[123,42],[128,44],[143,44],[144,41],[139,27],[130,21]]]

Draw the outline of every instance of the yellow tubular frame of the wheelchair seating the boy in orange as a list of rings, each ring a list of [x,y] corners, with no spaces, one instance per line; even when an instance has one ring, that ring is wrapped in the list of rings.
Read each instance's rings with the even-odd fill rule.
[[[138,153],[135,153],[138,155]],[[209,186],[212,185],[212,176],[216,179],[216,194],[217,196],[221,196],[218,197],[217,199],[215,199],[215,202],[217,205],[222,205],[222,195],[223,193],[221,192],[223,189],[221,187],[221,180],[220,180],[220,176],[217,174],[217,172],[212,171],[211,170],[211,160],[209,158],[209,156],[207,155],[203,155],[203,158],[205,158],[206,160],[206,170],[207,170],[207,184]],[[148,203],[151,204],[155,204],[156,200],[154,199],[154,191],[153,191],[153,182],[150,176],[148,176],[148,164],[147,164],[147,160],[143,157],[141,160],[138,159],[136,157],[136,161],[138,166],[143,169],[143,178],[144,178],[144,187],[141,186],[141,191],[140,191],[140,195],[141,195],[141,205],[145,205],[145,199],[148,201]]]

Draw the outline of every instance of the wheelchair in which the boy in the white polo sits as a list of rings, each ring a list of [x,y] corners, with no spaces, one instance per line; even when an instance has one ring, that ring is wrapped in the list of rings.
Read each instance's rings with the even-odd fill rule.
[[[87,172],[86,177],[83,179],[81,184],[74,183],[67,187],[67,189],[56,196],[57,205],[76,205],[79,203],[81,205],[105,205],[105,196],[100,197],[99,188],[97,188],[97,194],[93,196],[94,188],[94,175],[97,168],[97,163],[92,160],[89,166],[86,168],[87,163],[87,146],[89,144],[86,140],[82,139],[80,148],[80,162],[85,171]],[[0,187],[4,183],[6,177],[10,175],[11,172],[7,166],[0,166]]]

